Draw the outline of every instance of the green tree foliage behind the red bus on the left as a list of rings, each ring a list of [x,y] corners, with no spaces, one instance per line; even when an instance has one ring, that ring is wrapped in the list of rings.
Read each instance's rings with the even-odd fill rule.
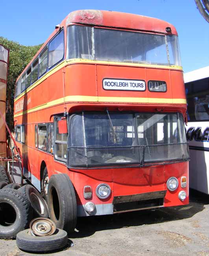
[[[7,124],[13,130],[15,82],[41,45],[25,46],[0,37],[0,44],[9,48],[9,76],[7,78]]]

